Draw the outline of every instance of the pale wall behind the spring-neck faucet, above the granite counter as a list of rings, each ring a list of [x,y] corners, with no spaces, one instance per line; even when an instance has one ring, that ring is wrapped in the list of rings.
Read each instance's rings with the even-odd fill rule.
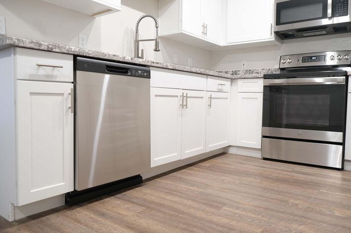
[[[122,11],[94,18],[41,0],[0,0],[0,16],[6,19],[7,35],[78,46],[78,35],[88,35],[88,49],[132,57],[136,20],[144,13],[158,16],[158,0],[122,0]],[[140,39],[155,36],[154,22],[144,19],[139,28]],[[154,43],[141,42],[145,59],[208,69],[211,52],[167,38],[160,39],[161,52]]]

